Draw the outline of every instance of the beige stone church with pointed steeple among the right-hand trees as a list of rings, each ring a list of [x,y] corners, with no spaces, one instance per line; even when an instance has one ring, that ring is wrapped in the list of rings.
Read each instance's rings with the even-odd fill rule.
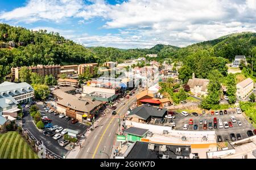
[[[195,96],[207,96],[207,86],[209,84],[209,79],[199,79],[195,78],[195,74],[193,73],[192,79],[188,80],[188,86],[190,87],[190,91]]]

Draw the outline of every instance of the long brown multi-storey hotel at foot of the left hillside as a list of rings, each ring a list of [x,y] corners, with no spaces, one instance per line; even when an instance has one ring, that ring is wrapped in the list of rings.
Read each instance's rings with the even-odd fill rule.
[[[12,67],[11,76],[12,80],[19,79],[19,70],[21,67]],[[55,78],[60,75],[60,65],[38,65],[38,66],[28,66],[28,70],[32,73],[37,73],[40,76],[52,75]]]

